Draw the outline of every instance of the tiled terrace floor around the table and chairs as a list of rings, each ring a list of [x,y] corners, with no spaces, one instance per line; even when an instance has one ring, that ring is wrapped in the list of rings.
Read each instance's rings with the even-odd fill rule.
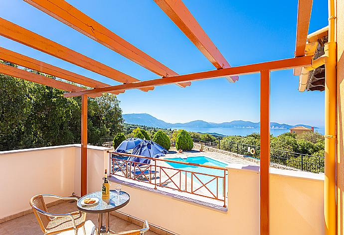
[[[64,202],[48,208],[50,213],[68,213],[72,211],[77,211],[75,202]],[[92,222],[97,225],[98,215],[87,214],[87,220],[92,220]],[[137,225],[130,222],[122,220],[118,217],[110,217],[110,229],[115,232],[128,231],[142,229]],[[36,217],[33,213],[16,218],[0,224],[0,235],[42,235],[42,231],[37,223]],[[145,235],[157,235],[151,231],[145,233]]]

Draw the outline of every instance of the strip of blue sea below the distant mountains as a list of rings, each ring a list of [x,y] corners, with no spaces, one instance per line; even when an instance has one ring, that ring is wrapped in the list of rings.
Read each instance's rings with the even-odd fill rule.
[[[187,131],[201,132],[201,133],[218,133],[222,135],[240,135],[246,136],[252,133],[259,133],[260,128],[223,128],[223,127],[214,127],[214,128],[199,128],[199,127],[174,127],[174,129],[184,129]],[[270,134],[273,136],[278,136],[280,134],[289,132],[289,129],[270,129]],[[315,132],[325,134],[325,128],[315,128]]]

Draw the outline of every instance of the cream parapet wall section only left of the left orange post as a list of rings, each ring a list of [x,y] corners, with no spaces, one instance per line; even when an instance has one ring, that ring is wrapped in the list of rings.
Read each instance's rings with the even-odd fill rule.
[[[0,152],[0,179],[0,218],[30,209],[30,198],[36,194],[70,196],[74,146]]]

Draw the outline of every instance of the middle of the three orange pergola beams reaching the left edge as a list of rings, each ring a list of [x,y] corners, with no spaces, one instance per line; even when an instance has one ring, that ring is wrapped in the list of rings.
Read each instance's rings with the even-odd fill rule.
[[[68,70],[64,70],[53,65],[44,63],[42,61],[32,59],[28,56],[16,53],[11,50],[7,50],[3,47],[0,47],[0,59],[11,62],[16,65],[20,65],[25,68],[36,70],[41,73],[49,74],[51,76],[55,76],[57,78],[61,78],[70,82],[75,82],[87,87],[99,88],[110,86],[106,83],[102,83],[97,80],[87,78],[85,76],[70,72]],[[115,92],[114,94],[119,94],[123,92],[124,91]]]

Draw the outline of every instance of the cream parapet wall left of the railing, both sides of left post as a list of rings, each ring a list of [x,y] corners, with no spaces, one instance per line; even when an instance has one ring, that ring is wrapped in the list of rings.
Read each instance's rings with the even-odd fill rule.
[[[100,190],[108,149],[88,145],[88,192]],[[30,209],[37,194],[80,195],[80,156],[80,144],[0,152],[0,218]]]

